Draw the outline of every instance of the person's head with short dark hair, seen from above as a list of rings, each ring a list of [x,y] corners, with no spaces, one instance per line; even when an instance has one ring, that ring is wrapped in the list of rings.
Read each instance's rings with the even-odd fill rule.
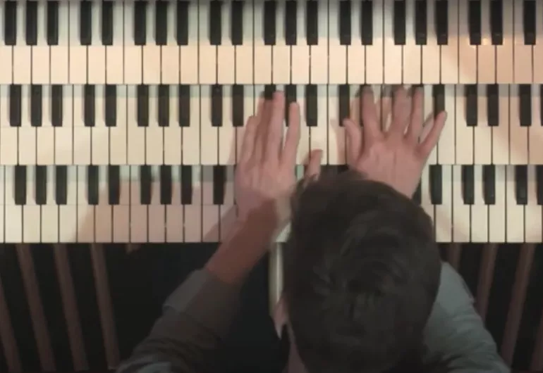
[[[428,215],[355,172],[298,187],[283,296],[310,373],[384,372],[422,346],[441,273]]]

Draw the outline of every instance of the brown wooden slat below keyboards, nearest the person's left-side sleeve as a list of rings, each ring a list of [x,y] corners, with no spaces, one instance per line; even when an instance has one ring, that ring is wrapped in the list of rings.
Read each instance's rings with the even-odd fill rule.
[[[90,255],[92,258],[92,272],[94,273],[94,284],[97,292],[102,334],[104,335],[107,364],[110,369],[114,369],[119,363],[119,352],[103,246],[92,244],[90,246]]]

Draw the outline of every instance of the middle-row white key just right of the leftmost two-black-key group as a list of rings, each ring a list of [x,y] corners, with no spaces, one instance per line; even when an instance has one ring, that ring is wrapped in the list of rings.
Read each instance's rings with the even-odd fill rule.
[[[128,92],[126,85],[115,87],[116,94],[116,123],[114,127],[109,127],[109,163],[111,165],[126,164],[126,141],[127,141],[127,101]]]

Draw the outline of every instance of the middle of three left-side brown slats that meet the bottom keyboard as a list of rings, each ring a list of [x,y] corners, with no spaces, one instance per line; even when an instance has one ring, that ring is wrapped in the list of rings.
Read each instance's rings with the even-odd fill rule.
[[[85,345],[83,344],[83,332],[81,331],[79,310],[75,301],[75,290],[65,245],[54,246],[54,258],[56,275],[61,290],[62,308],[66,318],[66,329],[68,329],[68,338],[70,340],[73,367],[78,371],[87,370],[89,365]]]

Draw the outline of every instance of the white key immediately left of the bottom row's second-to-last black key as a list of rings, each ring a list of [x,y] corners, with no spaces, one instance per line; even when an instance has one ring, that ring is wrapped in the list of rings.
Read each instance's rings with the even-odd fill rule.
[[[506,166],[506,240],[524,242],[524,206],[515,198],[515,166]]]

